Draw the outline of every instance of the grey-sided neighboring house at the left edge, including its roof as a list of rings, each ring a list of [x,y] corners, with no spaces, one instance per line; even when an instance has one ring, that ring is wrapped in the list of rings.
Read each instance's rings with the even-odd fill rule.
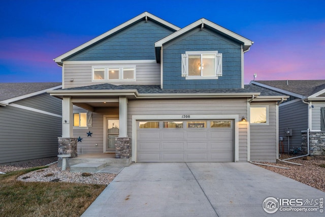
[[[61,83],[0,83],[0,165],[57,156]]]

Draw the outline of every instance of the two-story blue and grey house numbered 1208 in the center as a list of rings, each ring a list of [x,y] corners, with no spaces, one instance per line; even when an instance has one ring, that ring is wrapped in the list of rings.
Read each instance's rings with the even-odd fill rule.
[[[58,56],[59,153],[133,162],[275,162],[283,94],[244,85],[252,41],[206,19],[150,13]],[[248,122],[246,121],[248,120]]]

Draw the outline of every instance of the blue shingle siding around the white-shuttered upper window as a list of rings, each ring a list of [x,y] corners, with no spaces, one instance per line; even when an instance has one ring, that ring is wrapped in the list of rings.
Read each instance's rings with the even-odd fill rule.
[[[185,80],[181,77],[181,54],[185,51],[222,53],[222,77],[213,80]],[[204,28],[193,29],[164,46],[164,89],[241,88],[241,46]]]

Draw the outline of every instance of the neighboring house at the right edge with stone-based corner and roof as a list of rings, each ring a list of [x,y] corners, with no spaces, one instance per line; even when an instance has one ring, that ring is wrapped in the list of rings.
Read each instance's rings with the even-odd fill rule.
[[[290,96],[279,106],[280,152],[325,153],[325,80],[252,81]],[[307,133],[309,137],[307,137]]]

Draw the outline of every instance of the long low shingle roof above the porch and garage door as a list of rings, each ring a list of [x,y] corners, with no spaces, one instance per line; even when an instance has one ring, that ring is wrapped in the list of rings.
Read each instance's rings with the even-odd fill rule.
[[[139,94],[204,94],[204,93],[248,93],[261,92],[260,96],[284,96],[278,92],[272,91],[256,85],[245,85],[245,88],[232,89],[161,89],[159,85],[114,85],[114,84],[96,84],[83,87],[67,88],[64,90],[127,90],[136,89]]]

